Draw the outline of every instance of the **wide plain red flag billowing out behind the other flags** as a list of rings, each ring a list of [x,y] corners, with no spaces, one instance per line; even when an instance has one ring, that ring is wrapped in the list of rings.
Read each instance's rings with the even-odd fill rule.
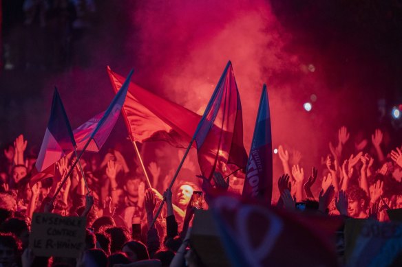
[[[107,67],[116,93],[123,76]],[[131,140],[167,141],[172,146],[186,148],[201,116],[169,100],[165,100],[131,82],[123,105],[123,117]]]

